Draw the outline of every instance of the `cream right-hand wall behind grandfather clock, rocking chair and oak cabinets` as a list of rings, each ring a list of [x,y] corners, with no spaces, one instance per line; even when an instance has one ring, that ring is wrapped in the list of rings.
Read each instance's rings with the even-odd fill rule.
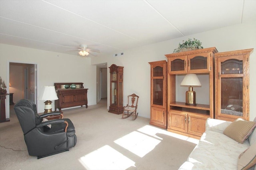
[[[233,25],[178,39],[119,51],[124,52],[124,55],[121,57],[113,57],[113,54],[108,54],[104,57],[95,57],[92,59],[92,64],[108,63],[108,67],[111,64],[124,66],[124,105],[127,104],[126,96],[135,93],[140,96],[138,102],[139,116],[150,117],[150,64],[148,64],[148,62],[165,60],[165,54],[173,53],[174,49],[178,47],[178,44],[188,38],[199,39],[204,48],[216,47],[219,52],[254,48],[254,52],[250,56],[250,120],[253,120],[254,117],[256,117],[256,105],[254,104],[254,101],[256,101],[256,88],[254,88],[256,87],[256,67],[254,66],[256,63],[255,30],[255,22]],[[109,88],[108,74],[108,89]],[[186,89],[184,90],[186,91]],[[179,92],[180,94],[184,94],[182,89],[180,89]],[[197,95],[199,94],[198,91]],[[108,92],[108,98],[109,95]],[[184,98],[185,95],[178,97],[180,97],[179,100],[184,100],[182,98]],[[197,102],[207,100],[209,100],[208,96],[204,95],[202,95],[202,98],[197,98]],[[108,101],[108,106],[109,105],[110,102]]]

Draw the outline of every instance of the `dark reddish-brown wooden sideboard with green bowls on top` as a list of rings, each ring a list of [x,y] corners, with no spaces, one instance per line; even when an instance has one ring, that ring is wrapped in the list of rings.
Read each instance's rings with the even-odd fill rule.
[[[76,88],[72,89],[70,86],[76,85]],[[83,106],[88,107],[87,90],[84,88],[84,83],[54,83],[58,100],[55,100],[55,111],[58,108],[59,111],[67,107]]]

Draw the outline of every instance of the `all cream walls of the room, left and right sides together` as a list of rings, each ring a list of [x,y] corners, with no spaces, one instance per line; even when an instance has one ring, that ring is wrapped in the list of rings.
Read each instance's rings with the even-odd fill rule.
[[[9,61],[38,64],[38,91],[41,86],[53,85],[54,82],[84,82],[88,88],[88,105],[96,104],[98,75],[96,66],[92,64],[108,63],[124,66],[124,105],[127,96],[135,93],[140,96],[138,113],[142,117],[150,117],[150,64],[148,62],[166,59],[165,54],[173,53],[178,43],[188,38],[196,38],[204,48],[216,47],[219,52],[254,48],[250,56],[250,120],[256,117],[256,23],[245,23],[194,34],[178,39],[163,41],[119,51],[122,57],[113,54],[102,54],[92,58],[81,58],[76,55],[66,55],[37,49],[16,47],[0,44],[0,75],[4,80],[7,76]],[[19,53],[12,53],[13,49]],[[108,68],[108,89],[109,68]],[[109,98],[108,90],[108,98]],[[181,92],[182,93],[182,92]],[[207,97],[206,97],[207,98]],[[182,99],[181,99],[182,100]],[[207,99],[206,99],[207,100]],[[44,101],[38,100],[38,110],[43,111]],[[199,102],[199,101],[198,101]],[[108,106],[110,102],[108,101]]]

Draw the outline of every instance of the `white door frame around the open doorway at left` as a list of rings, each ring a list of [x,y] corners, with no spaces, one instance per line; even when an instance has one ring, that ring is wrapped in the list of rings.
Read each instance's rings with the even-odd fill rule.
[[[7,61],[7,75],[6,75],[6,84],[8,84],[6,90],[7,90],[7,93],[10,93],[10,89],[9,89],[9,82],[10,82],[10,63],[20,63],[20,64],[33,64],[35,66],[35,71],[36,71],[36,74],[35,74],[35,103],[36,103],[36,106],[37,106],[37,83],[38,83],[38,64],[37,63],[29,63],[29,62],[19,62],[19,61]],[[6,95],[6,118],[9,118],[10,119],[10,97],[9,95]]]

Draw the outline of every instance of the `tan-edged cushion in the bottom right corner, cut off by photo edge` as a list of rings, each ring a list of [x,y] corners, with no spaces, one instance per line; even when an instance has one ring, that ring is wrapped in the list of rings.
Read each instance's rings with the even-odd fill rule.
[[[238,157],[237,169],[247,170],[256,164],[256,143],[242,152]]]

